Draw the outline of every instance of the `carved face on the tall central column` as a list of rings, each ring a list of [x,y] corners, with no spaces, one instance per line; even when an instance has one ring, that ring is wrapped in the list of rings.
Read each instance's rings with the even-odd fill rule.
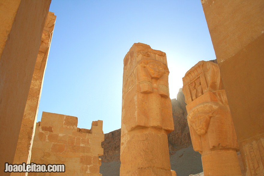
[[[159,62],[155,62],[155,61],[149,62],[146,65],[146,68],[152,79],[160,79],[161,76],[163,76],[163,74],[165,73],[164,68]]]

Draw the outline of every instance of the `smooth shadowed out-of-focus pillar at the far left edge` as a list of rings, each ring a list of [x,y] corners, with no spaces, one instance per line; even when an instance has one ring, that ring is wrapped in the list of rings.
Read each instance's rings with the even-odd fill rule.
[[[13,163],[41,35],[51,0],[0,5],[0,170]],[[10,173],[1,172],[2,175]]]

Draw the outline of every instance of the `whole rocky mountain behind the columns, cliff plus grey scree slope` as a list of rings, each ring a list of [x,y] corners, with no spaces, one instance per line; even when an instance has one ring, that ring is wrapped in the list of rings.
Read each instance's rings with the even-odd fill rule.
[[[177,100],[172,99],[171,103],[174,122],[174,131],[168,134],[171,169],[180,176],[200,173],[203,171],[201,155],[192,148],[182,88],[179,90]],[[120,136],[121,129],[105,134],[105,140],[102,142],[104,155],[100,156],[102,159],[100,173],[103,175],[119,175]]]

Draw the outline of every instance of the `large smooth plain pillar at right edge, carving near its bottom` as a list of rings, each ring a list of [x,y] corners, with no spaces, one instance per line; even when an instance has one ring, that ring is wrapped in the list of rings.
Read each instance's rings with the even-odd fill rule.
[[[247,175],[264,175],[264,1],[202,0]]]

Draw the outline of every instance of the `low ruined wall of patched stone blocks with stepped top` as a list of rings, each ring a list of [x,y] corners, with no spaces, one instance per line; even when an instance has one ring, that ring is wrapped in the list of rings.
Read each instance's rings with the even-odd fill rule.
[[[98,156],[104,151],[103,121],[93,121],[91,130],[77,128],[77,124],[77,117],[43,112],[36,125],[31,163],[65,164],[64,175],[101,176]]]

